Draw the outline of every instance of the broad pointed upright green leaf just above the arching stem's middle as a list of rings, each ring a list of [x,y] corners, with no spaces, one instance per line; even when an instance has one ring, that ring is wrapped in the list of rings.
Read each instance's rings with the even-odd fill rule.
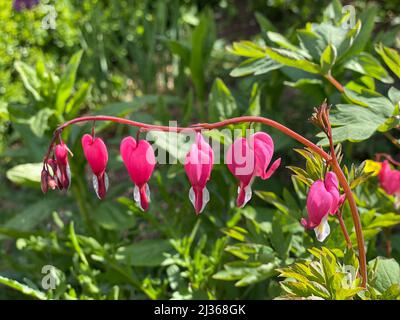
[[[231,118],[236,111],[236,101],[225,83],[217,78],[211,88],[209,112],[212,120]]]

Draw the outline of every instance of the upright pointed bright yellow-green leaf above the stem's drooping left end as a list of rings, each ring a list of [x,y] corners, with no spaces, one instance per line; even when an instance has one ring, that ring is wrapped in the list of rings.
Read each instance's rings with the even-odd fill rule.
[[[58,83],[56,93],[56,110],[60,115],[64,113],[66,107],[65,102],[72,94],[76,72],[81,62],[82,54],[83,51],[80,50],[72,56],[67,67],[65,68],[63,75],[61,76],[60,82]]]

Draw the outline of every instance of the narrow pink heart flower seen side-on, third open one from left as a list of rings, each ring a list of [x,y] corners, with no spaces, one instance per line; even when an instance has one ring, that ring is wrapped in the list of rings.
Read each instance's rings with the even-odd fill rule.
[[[196,210],[196,214],[200,214],[210,200],[206,183],[210,179],[213,164],[214,151],[204,140],[201,133],[196,133],[196,142],[191,146],[185,159],[186,175],[192,185],[189,191],[189,199]]]

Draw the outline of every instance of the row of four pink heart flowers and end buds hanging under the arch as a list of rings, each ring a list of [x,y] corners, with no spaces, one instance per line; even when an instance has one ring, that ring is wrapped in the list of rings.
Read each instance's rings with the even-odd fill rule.
[[[108,162],[106,145],[101,138],[85,134],[82,137],[82,148],[93,173],[94,190],[99,199],[104,199],[109,184],[106,173]],[[44,193],[49,187],[61,190],[68,189],[71,184],[67,146],[61,141],[51,151],[52,156],[45,161],[42,171]],[[227,166],[239,180],[237,206],[243,207],[251,199],[251,185],[256,177],[268,179],[279,167],[280,158],[269,167],[273,153],[272,138],[264,132],[255,133],[247,139],[238,138],[229,147],[226,154]],[[148,181],[156,165],[154,150],[146,140],[126,137],[120,144],[120,154],[134,184],[133,199],[143,211],[146,211],[150,202]],[[196,132],[195,142],[186,155],[184,163],[186,175],[191,184],[189,199],[196,214],[200,214],[210,200],[206,184],[210,180],[213,165],[213,149],[202,134]]]

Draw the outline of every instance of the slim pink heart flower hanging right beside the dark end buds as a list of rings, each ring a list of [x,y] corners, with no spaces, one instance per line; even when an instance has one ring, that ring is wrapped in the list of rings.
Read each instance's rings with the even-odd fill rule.
[[[104,141],[90,134],[82,137],[82,148],[93,172],[93,187],[99,199],[104,199],[108,189],[106,167],[108,152]]]

